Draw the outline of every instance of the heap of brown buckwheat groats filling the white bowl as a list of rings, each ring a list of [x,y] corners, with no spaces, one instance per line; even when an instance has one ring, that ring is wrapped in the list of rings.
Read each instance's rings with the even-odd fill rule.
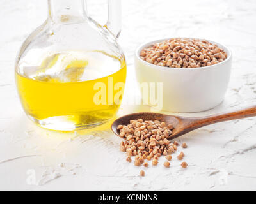
[[[158,66],[200,68],[224,61],[227,52],[206,40],[171,38],[144,48],[140,57]]]

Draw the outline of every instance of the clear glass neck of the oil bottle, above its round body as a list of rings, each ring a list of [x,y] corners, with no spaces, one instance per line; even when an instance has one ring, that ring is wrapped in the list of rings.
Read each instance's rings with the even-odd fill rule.
[[[48,0],[49,19],[52,22],[69,22],[74,20],[85,20],[85,0]]]

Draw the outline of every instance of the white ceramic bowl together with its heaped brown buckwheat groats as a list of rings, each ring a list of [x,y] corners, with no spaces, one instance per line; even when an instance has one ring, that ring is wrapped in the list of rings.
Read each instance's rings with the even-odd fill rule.
[[[154,106],[152,98],[156,98],[163,102],[162,110],[170,112],[214,108],[227,91],[231,61],[229,48],[209,40],[168,38],[145,43],[135,53],[144,104]]]

